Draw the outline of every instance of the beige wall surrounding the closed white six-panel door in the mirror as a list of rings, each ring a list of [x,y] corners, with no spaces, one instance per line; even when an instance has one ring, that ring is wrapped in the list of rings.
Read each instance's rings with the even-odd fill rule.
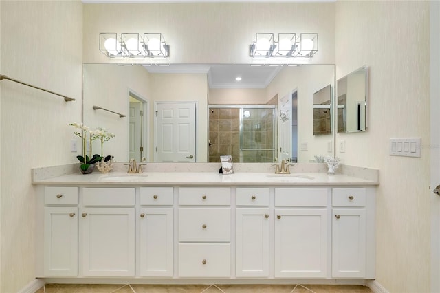
[[[208,162],[208,78],[206,74],[151,74],[151,102],[196,102],[196,162]],[[153,112],[152,112],[153,114]],[[150,125],[154,125],[151,115]],[[150,131],[153,141],[154,131]],[[153,150],[151,150],[153,155]],[[151,157],[153,158],[153,157]]]

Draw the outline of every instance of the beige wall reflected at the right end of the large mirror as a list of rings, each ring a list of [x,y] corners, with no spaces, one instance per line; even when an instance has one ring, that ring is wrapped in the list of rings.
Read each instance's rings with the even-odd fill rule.
[[[266,97],[270,100],[298,91],[298,162],[315,160],[315,155],[331,155],[327,144],[333,144],[333,135],[314,135],[313,94],[329,84],[335,83],[334,65],[307,65],[285,67],[267,87]],[[307,151],[300,150],[300,144],[307,143]]]

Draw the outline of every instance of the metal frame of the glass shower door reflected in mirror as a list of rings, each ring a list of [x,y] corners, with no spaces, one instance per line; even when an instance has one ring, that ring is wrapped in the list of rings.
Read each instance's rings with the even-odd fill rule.
[[[209,138],[209,112],[211,108],[224,108],[224,109],[236,109],[239,108],[239,158],[240,162],[243,162],[243,150],[244,151],[256,151],[256,150],[262,150],[262,151],[272,151],[272,162],[276,159],[278,155],[278,107],[277,105],[252,105],[252,104],[210,104],[208,105],[208,138]],[[272,115],[273,115],[273,125],[274,130],[272,131],[272,142],[273,147],[272,149],[243,149],[243,109],[272,109]],[[228,154],[224,154],[228,155]],[[209,162],[209,143],[208,143],[208,162]]]

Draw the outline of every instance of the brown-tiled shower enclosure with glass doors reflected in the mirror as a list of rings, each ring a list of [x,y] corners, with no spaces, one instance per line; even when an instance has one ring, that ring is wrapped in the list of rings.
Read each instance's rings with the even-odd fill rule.
[[[274,162],[275,105],[209,105],[208,162]]]

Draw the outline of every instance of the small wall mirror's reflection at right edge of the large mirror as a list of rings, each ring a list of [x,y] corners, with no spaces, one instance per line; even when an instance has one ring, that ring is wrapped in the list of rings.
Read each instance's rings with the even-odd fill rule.
[[[331,85],[314,93],[314,135],[331,134]]]

